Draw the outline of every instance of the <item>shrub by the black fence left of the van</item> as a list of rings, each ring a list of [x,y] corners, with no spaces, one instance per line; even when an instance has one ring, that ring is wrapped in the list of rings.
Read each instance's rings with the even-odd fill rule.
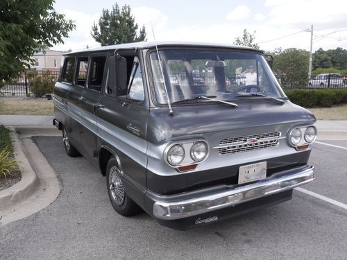
[[[54,84],[56,83],[56,78],[51,76],[49,71],[42,71],[40,74],[37,71],[27,73],[29,86],[35,97],[52,93]]]

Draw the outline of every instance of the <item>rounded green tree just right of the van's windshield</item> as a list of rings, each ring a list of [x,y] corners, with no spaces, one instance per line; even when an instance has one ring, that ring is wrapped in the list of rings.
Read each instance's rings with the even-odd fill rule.
[[[282,87],[291,89],[307,85],[308,59],[310,53],[301,49],[276,50],[273,72],[280,79]]]

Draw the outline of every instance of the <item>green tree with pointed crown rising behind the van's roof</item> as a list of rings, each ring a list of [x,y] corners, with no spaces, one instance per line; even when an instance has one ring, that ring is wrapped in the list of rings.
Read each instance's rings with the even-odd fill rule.
[[[112,10],[103,9],[98,24],[92,26],[92,37],[101,46],[123,44],[127,42],[141,42],[146,40],[146,28],[142,26],[137,36],[138,25],[131,15],[130,6],[119,8],[116,3]]]

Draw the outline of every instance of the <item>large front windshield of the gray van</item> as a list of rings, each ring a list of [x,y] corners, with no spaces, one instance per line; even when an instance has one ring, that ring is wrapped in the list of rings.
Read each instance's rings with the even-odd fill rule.
[[[253,94],[256,93],[274,98],[285,97],[260,53],[172,49],[159,51],[159,55],[160,59],[154,51],[150,59],[155,97],[160,104],[167,104],[167,94],[171,103],[189,100],[194,103],[201,101],[201,96],[232,101],[255,96]]]

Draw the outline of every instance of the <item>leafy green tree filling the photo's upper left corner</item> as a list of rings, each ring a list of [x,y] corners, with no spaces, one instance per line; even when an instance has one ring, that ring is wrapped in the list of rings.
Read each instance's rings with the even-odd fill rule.
[[[0,82],[17,78],[40,46],[64,43],[73,21],[53,8],[54,0],[0,1]]]

